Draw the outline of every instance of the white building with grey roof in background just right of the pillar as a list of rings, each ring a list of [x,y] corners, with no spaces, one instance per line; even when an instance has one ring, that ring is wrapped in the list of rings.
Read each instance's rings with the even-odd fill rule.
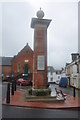
[[[61,70],[55,70],[52,66],[47,67],[47,78],[49,83],[57,83],[61,79]]]

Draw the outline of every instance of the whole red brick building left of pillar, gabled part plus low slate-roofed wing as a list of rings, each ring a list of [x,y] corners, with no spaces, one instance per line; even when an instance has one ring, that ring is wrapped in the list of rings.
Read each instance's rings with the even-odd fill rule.
[[[14,58],[2,57],[1,59],[0,73],[4,74],[5,77],[12,74],[16,77],[25,73],[26,64],[28,66],[27,72],[33,74],[33,51],[28,44]]]

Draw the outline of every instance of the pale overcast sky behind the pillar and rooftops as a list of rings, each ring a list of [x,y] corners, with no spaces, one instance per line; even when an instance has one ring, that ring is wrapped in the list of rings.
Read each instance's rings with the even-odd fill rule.
[[[47,31],[48,65],[55,69],[65,67],[66,62],[71,62],[71,53],[78,52],[78,3],[74,0],[74,2],[26,1],[4,2],[2,6],[0,5],[2,55],[14,56],[27,43],[34,49],[31,19],[36,17],[36,12],[41,7],[45,13],[44,19],[52,19]]]

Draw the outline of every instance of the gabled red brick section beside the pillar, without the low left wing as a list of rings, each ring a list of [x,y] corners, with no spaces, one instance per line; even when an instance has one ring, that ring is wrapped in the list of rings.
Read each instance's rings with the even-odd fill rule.
[[[26,64],[28,65],[28,73],[33,73],[33,51],[28,44],[12,60],[14,76],[24,73]]]

